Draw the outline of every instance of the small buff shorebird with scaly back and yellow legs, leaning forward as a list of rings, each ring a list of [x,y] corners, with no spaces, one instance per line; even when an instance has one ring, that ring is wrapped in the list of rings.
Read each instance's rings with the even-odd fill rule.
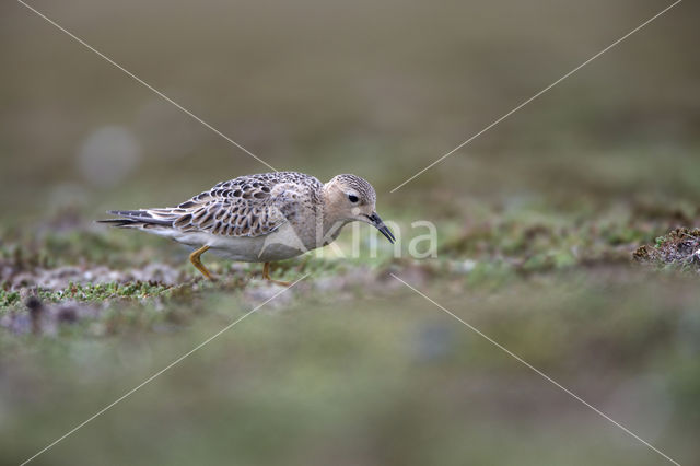
[[[270,264],[332,243],[346,224],[360,221],[375,226],[394,244],[394,233],[376,213],[376,193],[359,176],[341,174],[328,183],[299,172],[240,176],[173,208],[109,210],[115,219],[98,220],[168,237],[192,248],[191,264],[209,280],[201,263],[208,251],[238,261]]]

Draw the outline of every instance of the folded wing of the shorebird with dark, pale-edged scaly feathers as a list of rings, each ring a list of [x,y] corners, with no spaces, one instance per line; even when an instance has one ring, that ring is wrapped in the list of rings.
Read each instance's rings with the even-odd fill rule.
[[[219,183],[173,209],[149,209],[183,232],[222,236],[270,234],[298,214],[305,186],[243,176]]]

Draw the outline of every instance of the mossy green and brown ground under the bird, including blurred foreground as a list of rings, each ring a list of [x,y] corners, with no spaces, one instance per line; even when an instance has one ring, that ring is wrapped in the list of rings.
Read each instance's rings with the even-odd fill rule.
[[[692,357],[700,349],[700,296],[691,276],[633,260],[638,247],[675,221],[668,212],[620,212],[485,203],[467,223],[439,221],[436,258],[395,258],[386,248],[376,258],[281,263],[276,277],[310,277],[57,446],[51,462],[74,451],[96,458],[107,445],[137,464],[218,461],[231,441],[245,461],[323,464],[350,435],[360,442],[352,461],[388,455],[402,464],[450,464],[465,443],[471,457],[486,461],[505,439],[509,448],[498,455],[504,461],[534,455],[535,443],[548,445],[545,457],[553,463],[588,464],[585,445],[593,444],[603,462],[657,463],[390,273],[614,418],[638,430],[663,422],[646,436],[692,457],[692,435],[684,432],[700,426],[700,366]],[[207,256],[219,280],[206,281],[179,246],[96,230],[80,215],[66,230],[36,231],[2,245],[2,408],[12,419],[3,438],[13,440],[1,446],[14,461],[281,290],[260,279],[259,265]],[[346,236],[339,241],[341,251],[348,247]],[[125,436],[133,419],[142,424]],[[176,428],[143,443],[159,422]],[[30,427],[32,435],[18,440]],[[218,433],[202,436],[210,430]],[[121,440],[107,441],[105,432]],[[278,450],[264,447],[264,439]],[[399,451],[387,446],[407,439],[410,446]],[[129,453],[132,445],[138,455]]]

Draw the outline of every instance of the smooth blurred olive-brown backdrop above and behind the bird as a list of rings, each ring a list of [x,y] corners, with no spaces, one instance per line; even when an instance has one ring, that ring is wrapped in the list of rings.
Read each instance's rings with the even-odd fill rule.
[[[380,191],[666,5],[33,4],[279,170],[357,172]],[[26,8],[2,8],[3,211],[71,194],[172,205],[268,171]],[[428,186],[697,196],[697,8],[668,12],[382,202]]]

